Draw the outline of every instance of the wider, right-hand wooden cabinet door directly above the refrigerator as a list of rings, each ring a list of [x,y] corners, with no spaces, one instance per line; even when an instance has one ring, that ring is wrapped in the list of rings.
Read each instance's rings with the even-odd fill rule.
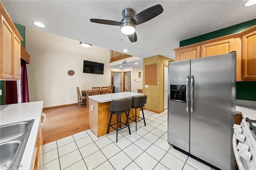
[[[200,57],[227,54],[232,51],[234,51],[234,38],[202,45]]]

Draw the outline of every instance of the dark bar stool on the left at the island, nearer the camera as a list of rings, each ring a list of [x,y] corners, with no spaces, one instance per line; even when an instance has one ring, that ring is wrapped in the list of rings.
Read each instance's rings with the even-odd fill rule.
[[[129,129],[129,134],[131,134],[131,130],[130,130],[130,125],[129,125],[129,121],[128,121],[128,115],[130,113],[130,108],[132,106],[132,98],[128,98],[128,99],[121,99],[121,100],[112,100],[110,103],[110,109],[108,109],[108,111],[110,111],[110,119],[109,119],[109,123],[108,123],[108,132],[109,133],[109,128],[112,127],[114,128],[112,125],[116,124],[116,128],[114,128],[116,130],[116,142],[117,142],[117,135],[118,135],[118,130],[121,130],[123,128],[128,127]],[[128,114],[127,114],[128,112]],[[126,123],[121,122],[121,114],[125,113],[126,115]],[[112,119],[112,115],[115,114],[116,115],[116,123],[113,123],[111,125],[111,119]],[[118,115],[119,115],[119,121],[118,121]],[[118,129],[118,123],[120,123],[120,128]],[[125,125],[124,127],[121,128],[121,123],[123,125]]]

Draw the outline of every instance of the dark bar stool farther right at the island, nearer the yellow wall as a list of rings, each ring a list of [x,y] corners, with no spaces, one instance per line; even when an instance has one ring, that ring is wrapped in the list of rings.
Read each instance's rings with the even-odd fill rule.
[[[147,95],[144,96],[134,96],[132,97],[132,108],[135,109],[135,116],[129,117],[129,119],[131,121],[134,121],[136,124],[136,131],[137,131],[137,122],[144,120],[144,125],[146,126],[146,121],[145,121],[145,117],[144,117],[144,112],[143,112],[143,107],[145,106],[145,104],[147,103]],[[137,109],[141,108],[142,110],[142,116],[137,116]],[[135,117],[135,120],[133,120],[132,118]],[[137,118],[139,118],[139,120],[137,120]]]

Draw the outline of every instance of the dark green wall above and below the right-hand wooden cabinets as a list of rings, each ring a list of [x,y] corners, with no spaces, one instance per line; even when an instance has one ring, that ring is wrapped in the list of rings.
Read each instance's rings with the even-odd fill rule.
[[[190,38],[188,40],[180,41],[180,47],[242,32],[255,25],[256,19],[243,22],[241,24],[230,26],[228,28],[223,28],[221,30]],[[236,99],[256,101],[256,81],[237,81]]]

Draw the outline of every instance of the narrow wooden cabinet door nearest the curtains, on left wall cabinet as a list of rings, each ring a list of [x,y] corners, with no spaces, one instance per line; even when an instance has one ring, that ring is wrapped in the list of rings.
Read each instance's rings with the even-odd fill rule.
[[[13,78],[20,79],[20,40],[14,35]]]

